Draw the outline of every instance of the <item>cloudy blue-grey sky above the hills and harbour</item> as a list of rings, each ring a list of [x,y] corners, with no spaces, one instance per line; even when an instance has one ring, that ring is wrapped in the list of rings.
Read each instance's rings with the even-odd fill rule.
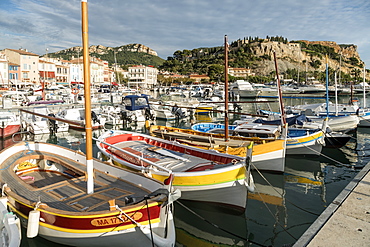
[[[177,50],[244,37],[354,44],[370,67],[370,0],[88,0],[89,44]],[[82,46],[80,0],[0,0],[0,50]]]

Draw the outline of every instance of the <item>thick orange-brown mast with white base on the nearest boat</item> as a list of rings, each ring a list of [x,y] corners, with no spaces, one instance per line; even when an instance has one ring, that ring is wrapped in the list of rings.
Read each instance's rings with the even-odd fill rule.
[[[90,95],[90,57],[87,0],[81,0],[82,9],[82,43],[84,66],[84,94],[85,94],[85,131],[86,131],[86,169],[87,193],[94,193],[94,167],[92,154],[92,124],[91,124],[91,95]]]

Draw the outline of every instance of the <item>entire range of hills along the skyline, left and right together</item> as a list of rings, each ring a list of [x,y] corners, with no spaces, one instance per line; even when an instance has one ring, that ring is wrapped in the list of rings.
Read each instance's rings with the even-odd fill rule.
[[[114,64],[114,53],[116,53],[117,63],[123,67],[152,65],[178,74],[207,74],[213,81],[222,81],[224,78],[224,47],[222,46],[178,50],[167,60],[158,57],[154,50],[141,44],[119,47],[95,45],[90,46],[89,51],[92,56],[106,60],[110,65]],[[302,81],[307,77],[315,77],[325,81],[326,55],[328,55],[330,81],[334,81],[334,71],[338,71],[338,77],[343,81],[362,81],[364,63],[357,52],[357,46],[337,44],[333,41],[288,41],[281,36],[238,39],[230,43],[229,67],[250,68],[256,74],[255,77],[248,78],[252,82],[274,80],[274,51],[278,59],[279,74],[286,79]],[[48,54],[51,57],[64,59],[81,55],[80,46]],[[367,75],[370,76],[370,73]]]

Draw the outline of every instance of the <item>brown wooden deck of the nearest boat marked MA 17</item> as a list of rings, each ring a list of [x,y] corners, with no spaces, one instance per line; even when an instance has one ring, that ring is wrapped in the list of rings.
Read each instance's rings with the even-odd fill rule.
[[[52,161],[61,161],[63,166],[69,168],[64,173],[53,170],[42,170],[37,167],[18,171],[13,169],[16,164],[25,160],[47,158]],[[114,199],[118,206],[125,206],[126,197],[143,199],[148,191],[131,184],[123,179],[110,176],[95,170],[94,193],[87,194],[87,179],[85,166],[52,153],[30,154],[19,152],[4,162],[1,172],[1,181],[8,184],[8,190],[27,200],[36,203],[40,201],[51,208],[69,212],[94,212],[109,210],[109,200]],[[129,201],[132,201],[129,199]]]

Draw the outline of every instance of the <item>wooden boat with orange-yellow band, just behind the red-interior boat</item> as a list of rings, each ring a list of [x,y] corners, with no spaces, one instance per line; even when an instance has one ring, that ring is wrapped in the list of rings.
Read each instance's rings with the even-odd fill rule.
[[[246,156],[246,146],[253,142],[252,169],[284,172],[286,140],[262,139],[260,137],[232,136],[225,141],[224,134],[202,133],[191,129],[151,125],[151,135],[177,141],[200,149],[215,150],[220,153]]]

